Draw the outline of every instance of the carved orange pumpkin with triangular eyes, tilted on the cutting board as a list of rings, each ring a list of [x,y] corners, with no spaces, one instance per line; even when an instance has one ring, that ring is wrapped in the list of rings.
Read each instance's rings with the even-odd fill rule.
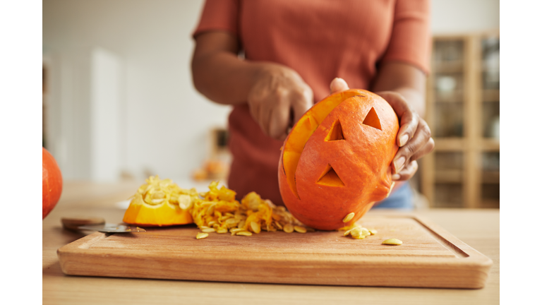
[[[366,90],[315,104],[292,128],[279,160],[279,189],[291,214],[316,229],[353,225],[393,187],[397,131],[390,104]],[[354,217],[343,222],[349,213]]]

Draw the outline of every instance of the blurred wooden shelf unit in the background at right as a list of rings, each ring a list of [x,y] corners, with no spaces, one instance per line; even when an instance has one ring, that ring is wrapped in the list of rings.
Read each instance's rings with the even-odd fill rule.
[[[435,150],[420,167],[421,193],[433,207],[499,208],[498,37],[433,37],[426,121]]]

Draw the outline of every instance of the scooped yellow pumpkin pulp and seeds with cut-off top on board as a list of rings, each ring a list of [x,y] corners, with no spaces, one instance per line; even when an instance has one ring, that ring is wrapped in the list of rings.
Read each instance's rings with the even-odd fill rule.
[[[149,177],[132,196],[123,221],[142,227],[162,227],[195,223],[201,230],[197,239],[209,233],[251,236],[262,231],[287,233],[315,232],[303,225],[283,206],[277,206],[251,192],[236,201],[235,191],[211,182],[209,191],[198,193],[195,189],[181,189],[171,179]],[[375,230],[357,224],[342,227],[344,236],[363,239]]]

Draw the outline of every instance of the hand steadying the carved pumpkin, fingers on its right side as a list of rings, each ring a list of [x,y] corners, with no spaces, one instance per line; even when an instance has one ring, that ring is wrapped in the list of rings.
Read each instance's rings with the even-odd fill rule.
[[[335,78],[330,85],[331,93],[348,89],[347,82],[342,78]],[[431,131],[426,121],[418,116],[402,95],[392,91],[375,93],[383,97],[399,117],[399,132],[397,133],[399,150],[392,162],[392,179],[408,180],[418,170],[416,160],[433,151],[435,141],[431,138]]]

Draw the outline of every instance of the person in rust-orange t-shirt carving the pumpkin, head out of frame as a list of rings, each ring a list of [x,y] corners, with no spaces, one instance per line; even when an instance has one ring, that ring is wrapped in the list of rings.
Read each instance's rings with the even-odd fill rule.
[[[234,107],[229,188],[282,204],[277,165],[289,127],[315,102],[350,86],[377,93],[397,113],[398,183],[377,206],[411,208],[403,181],[434,147],[422,119],[428,2],[207,0],[193,34],[192,74],[203,95]]]

